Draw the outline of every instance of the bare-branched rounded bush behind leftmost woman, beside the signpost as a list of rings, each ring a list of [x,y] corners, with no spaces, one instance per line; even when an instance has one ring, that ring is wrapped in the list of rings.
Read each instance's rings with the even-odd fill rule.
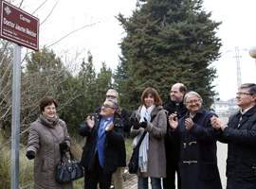
[[[75,87],[70,71],[53,50],[42,48],[27,54],[21,83],[21,133],[38,117],[39,103],[44,96],[56,98],[61,112],[77,97]]]

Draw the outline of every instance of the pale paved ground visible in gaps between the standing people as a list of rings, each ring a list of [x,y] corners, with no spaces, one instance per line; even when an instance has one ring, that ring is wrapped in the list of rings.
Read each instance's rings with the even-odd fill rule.
[[[218,157],[218,167],[219,172],[222,180],[222,186],[223,189],[226,188],[226,159],[227,159],[227,145],[221,144],[217,142],[217,157]],[[126,172],[125,175],[127,176],[127,179],[124,181],[124,188],[125,189],[137,189],[137,176],[129,176],[129,173]],[[151,188],[151,187],[150,187]],[[119,188],[117,188],[119,189]]]

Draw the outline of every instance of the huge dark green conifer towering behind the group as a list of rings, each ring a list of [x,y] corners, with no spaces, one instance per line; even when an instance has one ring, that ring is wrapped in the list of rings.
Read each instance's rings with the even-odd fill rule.
[[[139,96],[155,87],[166,98],[174,82],[183,82],[210,107],[216,70],[210,63],[220,56],[216,29],[202,0],[140,0],[132,17],[118,20],[127,32],[120,43],[122,57],[116,72],[126,92],[126,107],[137,107]]]

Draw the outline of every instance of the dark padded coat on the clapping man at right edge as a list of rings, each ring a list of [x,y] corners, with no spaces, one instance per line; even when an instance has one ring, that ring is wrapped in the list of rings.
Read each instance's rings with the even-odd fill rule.
[[[218,140],[228,144],[227,188],[256,188],[256,106],[231,115]]]

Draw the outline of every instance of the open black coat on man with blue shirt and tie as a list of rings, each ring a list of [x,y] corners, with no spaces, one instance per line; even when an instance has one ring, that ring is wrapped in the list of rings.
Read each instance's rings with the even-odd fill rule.
[[[94,114],[95,126],[90,131],[86,122],[84,122],[80,129],[79,134],[86,137],[85,146],[82,147],[81,163],[85,169],[92,170],[95,163],[94,151],[96,147],[98,129],[100,128],[101,115]],[[119,121],[117,121],[119,119]],[[104,148],[104,167],[105,173],[114,173],[119,166],[126,165],[126,152],[124,143],[124,131],[122,120],[118,113],[114,116],[114,128],[106,131],[105,148]]]

